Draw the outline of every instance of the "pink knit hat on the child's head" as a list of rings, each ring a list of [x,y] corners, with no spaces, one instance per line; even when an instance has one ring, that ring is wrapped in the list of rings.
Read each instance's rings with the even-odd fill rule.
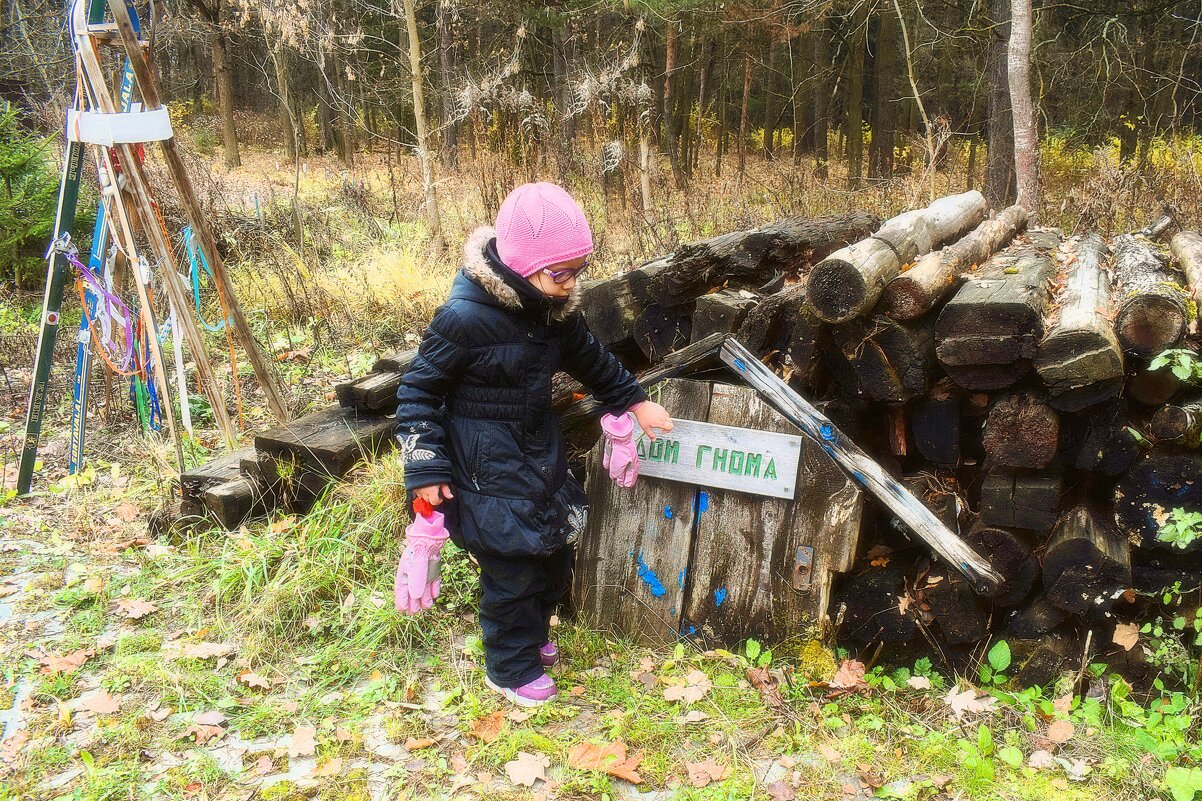
[[[584,212],[561,186],[540,182],[510,192],[496,214],[496,255],[523,278],[593,253]]]

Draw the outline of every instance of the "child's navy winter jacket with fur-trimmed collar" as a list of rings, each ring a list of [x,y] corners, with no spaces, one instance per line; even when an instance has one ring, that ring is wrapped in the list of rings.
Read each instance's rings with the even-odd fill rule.
[[[463,271],[430,320],[397,391],[405,486],[453,487],[456,542],[498,556],[547,556],[583,516],[551,411],[563,369],[614,414],[647,398],[577,313],[578,290],[552,301],[496,257],[492,229],[464,245]]]

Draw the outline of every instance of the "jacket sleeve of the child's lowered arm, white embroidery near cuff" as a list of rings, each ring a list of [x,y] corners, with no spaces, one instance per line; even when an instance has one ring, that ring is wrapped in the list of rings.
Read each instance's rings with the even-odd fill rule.
[[[397,440],[406,489],[451,483],[446,398],[468,361],[468,349],[454,338],[457,322],[446,307],[435,313],[397,390]]]

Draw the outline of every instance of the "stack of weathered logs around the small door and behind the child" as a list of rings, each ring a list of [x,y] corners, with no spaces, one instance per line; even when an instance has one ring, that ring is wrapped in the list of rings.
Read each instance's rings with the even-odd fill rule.
[[[829,611],[845,641],[911,643],[960,666],[1004,636],[1037,682],[1081,663],[1087,631],[1113,651],[1114,625],[1147,615],[1150,594],[1202,576],[1202,546],[1158,539],[1173,509],[1202,510],[1202,398],[1149,367],[1192,349],[1202,291],[1202,237],[1180,232],[1166,250],[1170,222],[1066,238],[970,191],[883,225],[789,219],[686,245],[585,286],[582,309],[647,385],[712,370],[714,342],[736,336],[1006,580],[977,597],[887,514],[865,515],[862,566]],[[411,356],[185,475],[183,511],[227,527],[303,511],[393,445]],[[582,392],[564,379],[553,394],[587,447],[595,408]],[[1141,653],[1108,659],[1138,672]]]

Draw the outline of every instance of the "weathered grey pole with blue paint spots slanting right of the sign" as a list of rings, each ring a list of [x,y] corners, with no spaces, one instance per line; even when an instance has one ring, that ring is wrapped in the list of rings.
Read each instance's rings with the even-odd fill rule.
[[[775,373],[733,337],[722,343],[722,361],[758,391],[780,414],[814,438],[839,467],[851,473],[877,500],[929,545],[950,566],[968,578],[978,593],[992,594],[1002,577],[989,563],[947,529],[935,515],[894,477],[885,473],[859,446],[849,440],[805,398],[789,388]]]

